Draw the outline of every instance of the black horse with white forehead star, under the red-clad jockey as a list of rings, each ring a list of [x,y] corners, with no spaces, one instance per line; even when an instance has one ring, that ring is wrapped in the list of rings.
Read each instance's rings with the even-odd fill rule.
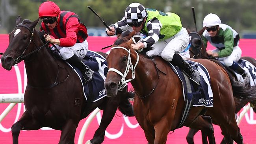
[[[9,46],[1,57],[6,70],[24,60],[28,77],[24,94],[26,111],[11,127],[13,144],[18,144],[20,130],[38,130],[41,127],[60,130],[59,144],[74,144],[78,123],[96,107],[103,110],[103,115],[90,142],[102,143],[117,108],[126,116],[134,116],[128,100],[134,93],[128,92],[126,87],[113,98],[105,96],[89,104],[78,75],[65,61],[54,59],[50,48],[45,46],[48,43],[41,41],[39,31],[35,30],[38,21],[23,20],[21,23],[21,18],[17,17],[16,27],[9,34]]]

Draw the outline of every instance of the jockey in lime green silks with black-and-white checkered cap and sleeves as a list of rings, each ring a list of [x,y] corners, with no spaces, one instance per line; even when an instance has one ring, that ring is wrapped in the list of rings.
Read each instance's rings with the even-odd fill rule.
[[[126,7],[124,17],[111,24],[110,28],[111,31],[106,29],[109,36],[120,34],[129,28],[143,33],[146,37],[137,44],[131,44],[131,48],[141,50],[153,47],[153,50],[147,52],[148,56],[159,55],[165,61],[184,69],[197,83],[200,82],[200,73],[182,58],[190,57],[189,50],[185,50],[189,45],[189,35],[175,13],[145,9],[139,3],[132,3]]]

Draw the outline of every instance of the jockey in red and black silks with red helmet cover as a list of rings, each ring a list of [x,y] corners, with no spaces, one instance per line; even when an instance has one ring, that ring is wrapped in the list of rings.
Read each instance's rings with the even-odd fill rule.
[[[85,81],[89,82],[93,70],[81,61],[88,51],[88,34],[78,15],[71,11],[61,11],[59,6],[51,1],[39,6],[38,15],[42,20],[40,30],[49,33],[45,35],[45,40],[54,44],[62,59],[79,68]]]

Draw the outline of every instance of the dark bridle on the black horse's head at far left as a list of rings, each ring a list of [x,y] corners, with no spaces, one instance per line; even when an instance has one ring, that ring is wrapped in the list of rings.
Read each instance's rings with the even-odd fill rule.
[[[25,57],[27,57],[27,56],[29,56],[29,55],[35,53],[35,52],[38,52],[41,48],[43,48],[44,46],[46,46],[46,45],[49,43],[49,41],[48,41],[48,42],[46,42],[43,46],[41,46],[40,48],[37,48],[36,50],[33,50],[32,52],[30,52],[30,53],[24,55],[24,53],[25,53],[26,50],[28,49],[28,46],[30,45],[31,41],[33,41],[33,43],[35,44],[35,41],[33,40],[33,35],[34,35],[34,30],[35,30],[35,29],[33,28],[33,31],[32,31],[32,30],[30,30],[30,28],[29,28],[28,26],[26,26],[26,25],[24,25],[24,24],[18,24],[18,25],[16,26],[16,28],[17,28],[18,26],[21,26],[21,27],[24,27],[24,28],[28,29],[28,30],[30,31],[31,36],[30,36],[30,41],[28,42],[28,45],[26,46],[25,50],[22,52],[22,54],[21,54],[20,56],[18,56],[16,59],[14,59],[14,61],[15,61],[16,64],[19,63],[20,61],[22,61]],[[36,44],[35,44],[35,46],[37,47]]]

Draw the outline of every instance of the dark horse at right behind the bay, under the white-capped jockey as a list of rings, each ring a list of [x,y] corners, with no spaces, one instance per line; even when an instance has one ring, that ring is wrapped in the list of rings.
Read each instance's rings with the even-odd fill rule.
[[[209,56],[206,53],[206,48],[204,47],[204,44],[202,43],[201,35],[204,32],[204,30],[205,29],[203,28],[202,30],[200,30],[198,32],[188,31],[189,36],[191,37],[191,41],[193,43],[193,44],[191,44],[191,47],[189,48],[191,58],[214,59],[213,57]],[[245,59],[245,60],[249,61],[252,65],[256,66],[256,60],[252,57],[241,57],[241,59]],[[218,65],[222,65],[217,60],[215,60],[215,63],[217,63]],[[230,70],[229,68],[224,67],[224,66],[223,66],[223,68],[224,68],[224,70],[226,70],[227,73],[229,73],[234,79],[237,80],[237,77],[232,70]],[[236,103],[236,113],[238,113],[248,102],[250,102],[250,105],[253,108],[253,111],[256,113],[256,100],[252,100],[252,101],[240,100],[236,97],[234,97],[234,100]],[[206,113],[206,115],[207,115],[207,113]],[[189,129],[189,133],[187,134],[187,137],[186,137],[187,142],[189,144],[194,144],[193,137],[197,133],[197,131],[198,131],[197,129]],[[202,136],[202,139],[203,139],[203,143],[207,144],[206,137]],[[222,144],[225,143],[224,139],[225,138],[223,138],[223,141],[221,142]],[[230,140],[230,143],[232,143],[232,140]]]

